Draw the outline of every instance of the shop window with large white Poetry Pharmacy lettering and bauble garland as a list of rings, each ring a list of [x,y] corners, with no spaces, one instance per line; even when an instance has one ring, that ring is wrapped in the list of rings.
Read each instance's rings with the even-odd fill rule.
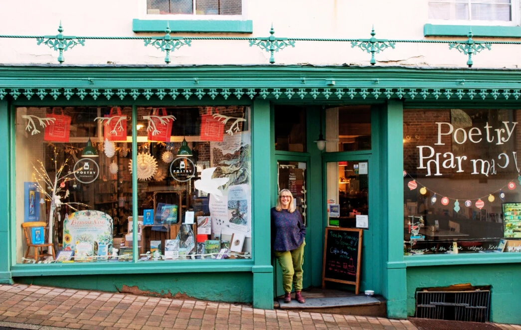
[[[404,252],[521,251],[521,111],[403,113]]]

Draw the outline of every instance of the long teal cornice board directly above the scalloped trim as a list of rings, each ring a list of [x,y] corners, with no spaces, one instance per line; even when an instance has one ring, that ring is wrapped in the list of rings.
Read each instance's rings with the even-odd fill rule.
[[[521,89],[521,69],[0,65],[0,88],[330,88],[331,77],[336,81],[332,88]]]

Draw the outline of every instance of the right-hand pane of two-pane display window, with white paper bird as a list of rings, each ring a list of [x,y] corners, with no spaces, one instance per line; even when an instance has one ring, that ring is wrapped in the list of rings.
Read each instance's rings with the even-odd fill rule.
[[[154,214],[139,260],[251,258],[249,107],[138,107],[138,118],[138,213]]]

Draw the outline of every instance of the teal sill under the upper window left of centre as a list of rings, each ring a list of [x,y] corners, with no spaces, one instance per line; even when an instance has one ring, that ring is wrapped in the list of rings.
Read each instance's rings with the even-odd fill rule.
[[[172,33],[253,33],[252,20],[166,20],[138,18],[132,20],[132,31],[135,33],[165,32],[167,23]]]

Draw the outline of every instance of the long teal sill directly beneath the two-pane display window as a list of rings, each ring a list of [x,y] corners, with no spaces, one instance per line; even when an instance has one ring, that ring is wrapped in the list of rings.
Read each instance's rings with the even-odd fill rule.
[[[253,260],[185,261],[185,262],[117,262],[71,264],[16,264],[11,267],[13,277],[95,274],[150,274],[150,273],[225,273],[252,272]]]

